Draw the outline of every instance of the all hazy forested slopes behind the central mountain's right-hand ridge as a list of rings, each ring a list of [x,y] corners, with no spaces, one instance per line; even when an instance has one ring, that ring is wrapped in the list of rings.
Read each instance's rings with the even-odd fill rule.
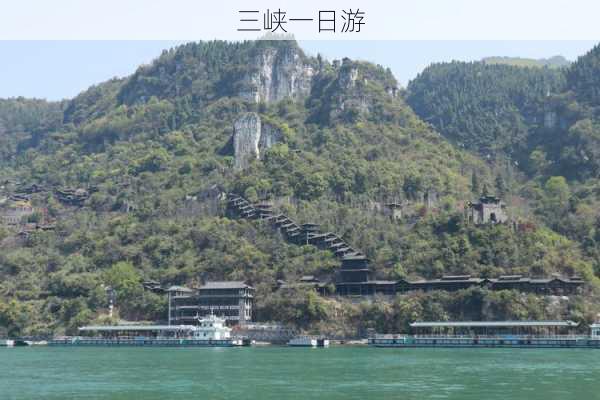
[[[436,64],[407,96],[445,137],[524,174],[518,191],[538,221],[577,242],[596,271],[599,60],[596,46],[561,70]]]

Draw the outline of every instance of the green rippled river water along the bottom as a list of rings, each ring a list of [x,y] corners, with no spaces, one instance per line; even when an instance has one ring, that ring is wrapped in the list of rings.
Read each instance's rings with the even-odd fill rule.
[[[9,399],[600,399],[600,350],[4,348]]]

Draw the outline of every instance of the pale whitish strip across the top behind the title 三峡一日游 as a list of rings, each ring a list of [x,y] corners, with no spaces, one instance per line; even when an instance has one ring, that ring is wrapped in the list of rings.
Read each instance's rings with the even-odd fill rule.
[[[261,14],[289,18],[301,40],[566,40],[600,37],[597,0],[18,0],[2,1],[0,39],[255,39]],[[321,31],[321,11],[360,9],[360,33]],[[256,12],[258,31],[238,31],[239,11]],[[291,19],[308,19],[294,22]],[[310,21],[312,19],[312,21]],[[250,18],[253,20],[253,18]]]

